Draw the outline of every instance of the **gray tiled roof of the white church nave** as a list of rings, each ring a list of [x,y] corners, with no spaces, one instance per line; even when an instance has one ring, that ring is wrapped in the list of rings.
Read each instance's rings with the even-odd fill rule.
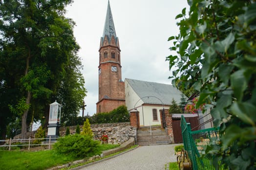
[[[131,88],[137,93],[144,103],[170,105],[172,98],[178,104],[180,102],[182,92],[172,85],[145,82],[140,80],[126,79]],[[147,97],[151,96],[151,97]],[[161,101],[159,101],[158,99]]]

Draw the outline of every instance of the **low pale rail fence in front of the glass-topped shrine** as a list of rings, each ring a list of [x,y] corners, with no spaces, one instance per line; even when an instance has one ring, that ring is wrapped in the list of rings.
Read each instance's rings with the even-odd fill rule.
[[[3,145],[0,145],[1,147],[4,148],[8,148],[8,150],[10,151],[12,149],[12,147],[15,147],[15,149],[17,149],[17,147],[21,147],[21,148],[26,148],[27,150],[30,150],[33,147],[36,146],[48,146],[48,149],[51,149],[51,145],[54,144],[53,141],[56,141],[57,139],[59,139],[60,137],[48,137],[48,138],[31,138],[29,137],[28,139],[7,139],[7,140],[0,140],[0,143],[4,143]],[[35,140],[41,140],[43,142],[41,142],[40,144],[35,144],[34,141]]]

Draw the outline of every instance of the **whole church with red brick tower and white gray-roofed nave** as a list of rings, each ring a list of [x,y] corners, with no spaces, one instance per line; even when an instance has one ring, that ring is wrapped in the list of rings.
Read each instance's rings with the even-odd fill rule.
[[[107,16],[99,49],[99,101],[97,113],[126,105],[138,111],[141,125],[161,124],[161,110],[168,110],[172,99],[180,102],[181,92],[172,85],[133,79],[122,80],[121,50],[108,0]]]

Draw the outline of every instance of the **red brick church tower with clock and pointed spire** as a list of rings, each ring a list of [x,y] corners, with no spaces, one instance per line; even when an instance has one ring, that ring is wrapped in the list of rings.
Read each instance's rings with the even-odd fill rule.
[[[122,81],[120,51],[108,0],[107,16],[99,50],[97,113],[109,112],[120,105],[125,105],[125,83]]]

